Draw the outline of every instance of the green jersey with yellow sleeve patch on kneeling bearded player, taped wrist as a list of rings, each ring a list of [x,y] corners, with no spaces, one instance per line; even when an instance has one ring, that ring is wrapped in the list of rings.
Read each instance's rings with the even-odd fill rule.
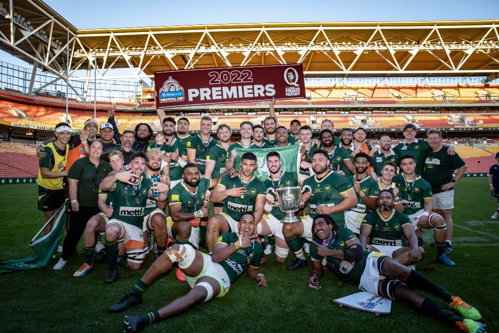
[[[205,201],[205,194],[210,187],[211,180],[201,178],[198,187],[193,193],[187,188],[184,181],[181,181],[173,187],[168,196],[168,206],[173,204],[182,204],[182,212],[194,213],[201,209]]]

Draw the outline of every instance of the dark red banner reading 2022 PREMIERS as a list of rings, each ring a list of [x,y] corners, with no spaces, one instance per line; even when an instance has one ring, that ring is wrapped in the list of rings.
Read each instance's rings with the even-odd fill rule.
[[[154,83],[157,108],[305,98],[301,64],[167,70]]]

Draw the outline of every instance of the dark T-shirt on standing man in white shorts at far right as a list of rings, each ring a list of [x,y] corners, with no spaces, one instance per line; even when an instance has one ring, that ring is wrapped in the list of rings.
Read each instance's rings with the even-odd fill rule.
[[[446,147],[434,152],[429,148],[426,152],[425,179],[431,184],[433,194],[444,192],[442,185],[452,182],[454,170],[465,165],[465,161],[459,157],[458,153],[449,155]],[[451,187],[448,191],[453,191]]]

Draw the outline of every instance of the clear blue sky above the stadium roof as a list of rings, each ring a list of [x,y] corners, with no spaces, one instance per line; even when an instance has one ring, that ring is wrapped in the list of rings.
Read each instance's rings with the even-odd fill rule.
[[[78,29],[217,23],[499,18],[498,0],[45,0]],[[0,51],[0,60],[28,64]]]

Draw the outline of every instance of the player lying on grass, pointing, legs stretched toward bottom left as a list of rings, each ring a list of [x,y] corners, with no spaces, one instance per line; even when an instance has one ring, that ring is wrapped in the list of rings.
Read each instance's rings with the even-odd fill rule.
[[[195,250],[189,244],[174,244],[152,264],[131,292],[112,305],[109,311],[117,313],[142,303],[142,293],[174,264],[184,271],[192,289],[157,311],[142,316],[126,316],[125,332],[137,332],[146,325],[180,315],[196,304],[223,297],[244,272],[258,281],[257,287],[266,287],[267,280],[258,271],[263,250],[258,242],[253,241],[257,237],[253,235],[255,228],[254,215],[244,213],[238,223],[239,232],[222,234],[211,256]]]

